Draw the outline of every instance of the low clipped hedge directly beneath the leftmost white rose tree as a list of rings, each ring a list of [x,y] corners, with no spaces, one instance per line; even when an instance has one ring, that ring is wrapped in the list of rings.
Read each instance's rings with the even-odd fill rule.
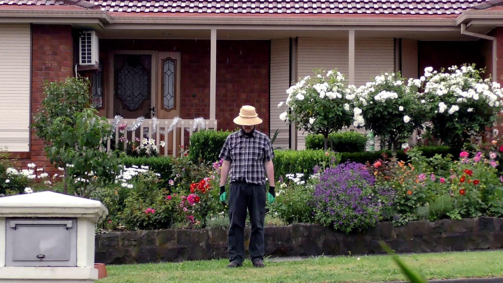
[[[356,131],[339,131],[328,134],[328,148],[336,152],[364,152],[367,137]],[[306,135],[306,149],[324,149],[325,138],[322,134]]]

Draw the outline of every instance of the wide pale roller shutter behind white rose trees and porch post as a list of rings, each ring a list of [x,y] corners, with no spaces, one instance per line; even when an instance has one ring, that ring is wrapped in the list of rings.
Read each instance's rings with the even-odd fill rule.
[[[298,39],[298,77],[312,76],[313,69],[329,70],[337,68],[349,79],[348,39],[299,38]],[[394,71],[393,38],[366,38],[355,40],[355,85],[358,87],[375,76]],[[350,127],[343,130],[365,129]],[[305,149],[303,130],[298,131],[297,149]],[[307,134],[307,133],[305,133]],[[376,143],[378,139],[376,138]],[[378,145],[376,145],[378,149]]]

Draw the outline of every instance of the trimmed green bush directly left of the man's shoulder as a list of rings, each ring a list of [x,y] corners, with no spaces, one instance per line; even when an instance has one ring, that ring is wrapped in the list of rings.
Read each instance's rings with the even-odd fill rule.
[[[190,138],[190,159],[193,163],[215,162],[222,150],[225,139],[231,131],[201,130]]]

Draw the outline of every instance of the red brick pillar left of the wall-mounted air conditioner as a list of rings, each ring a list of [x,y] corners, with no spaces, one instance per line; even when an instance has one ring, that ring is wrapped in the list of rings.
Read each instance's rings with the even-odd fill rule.
[[[62,81],[74,76],[73,37],[69,25],[33,25],[32,43],[32,115],[38,112],[44,99],[45,81]],[[37,166],[47,166],[46,171],[59,171],[50,167],[43,152],[42,140],[31,131],[31,160]]]

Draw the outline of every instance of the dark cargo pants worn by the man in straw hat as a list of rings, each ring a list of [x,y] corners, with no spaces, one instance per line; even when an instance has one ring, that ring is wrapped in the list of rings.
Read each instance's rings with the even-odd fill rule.
[[[266,186],[244,182],[230,183],[228,257],[229,261],[244,260],[244,223],[246,208],[250,214],[251,234],[249,254],[264,260],[264,218],[266,216]]]

